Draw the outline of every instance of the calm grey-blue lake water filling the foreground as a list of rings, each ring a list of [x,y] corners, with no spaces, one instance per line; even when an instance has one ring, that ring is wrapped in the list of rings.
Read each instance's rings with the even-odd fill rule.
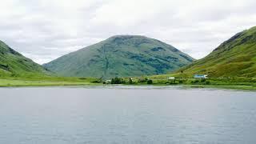
[[[256,143],[256,93],[0,88],[1,144]]]

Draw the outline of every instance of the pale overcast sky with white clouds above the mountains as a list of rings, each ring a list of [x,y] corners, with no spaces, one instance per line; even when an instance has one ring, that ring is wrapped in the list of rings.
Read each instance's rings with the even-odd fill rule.
[[[40,64],[120,34],[203,58],[256,26],[255,0],[1,0],[0,40]]]

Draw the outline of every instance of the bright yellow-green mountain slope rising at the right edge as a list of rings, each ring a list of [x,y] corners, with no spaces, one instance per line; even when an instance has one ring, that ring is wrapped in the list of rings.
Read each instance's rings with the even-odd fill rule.
[[[178,71],[189,76],[256,77],[256,26],[235,34],[206,58]]]

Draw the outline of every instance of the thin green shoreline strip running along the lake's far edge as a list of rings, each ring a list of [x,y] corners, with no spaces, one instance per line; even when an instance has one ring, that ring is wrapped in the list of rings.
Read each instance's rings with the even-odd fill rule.
[[[253,85],[191,85],[191,84],[102,84],[93,82],[65,82],[65,81],[31,81],[31,80],[10,80],[0,79],[0,87],[55,87],[55,86],[155,86],[155,87],[181,87],[181,88],[192,88],[192,89],[218,89],[218,90],[249,90],[256,91],[256,86]]]

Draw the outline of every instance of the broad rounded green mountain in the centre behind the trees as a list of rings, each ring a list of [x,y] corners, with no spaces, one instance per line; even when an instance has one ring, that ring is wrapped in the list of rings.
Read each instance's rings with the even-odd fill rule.
[[[166,74],[193,60],[174,46],[156,39],[118,35],[43,66],[61,76],[112,78]]]

